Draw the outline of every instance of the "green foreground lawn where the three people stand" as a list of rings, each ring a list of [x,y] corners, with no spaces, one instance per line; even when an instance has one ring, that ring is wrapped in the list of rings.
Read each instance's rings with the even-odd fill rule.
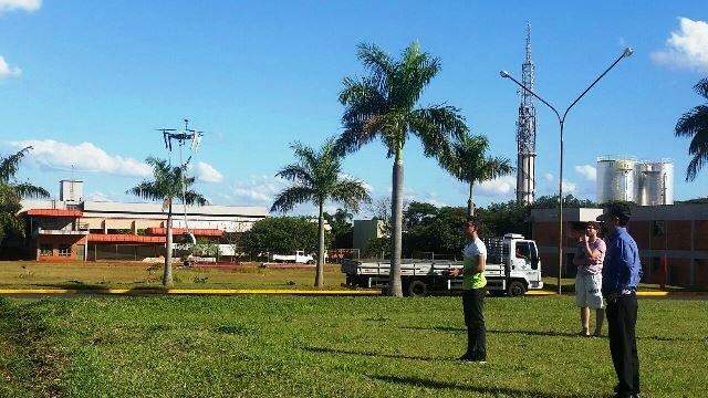
[[[641,300],[645,397],[708,385],[708,301]],[[602,397],[606,338],[571,297],[489,298],[489,363],[457,362],[459,297],[0,298],[0,396]]]

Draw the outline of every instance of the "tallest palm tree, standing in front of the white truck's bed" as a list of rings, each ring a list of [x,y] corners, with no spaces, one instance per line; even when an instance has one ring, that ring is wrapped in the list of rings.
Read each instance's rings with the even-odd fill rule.
[[[417,105],[423,90],[437,75],[440,62],[412,43],[394,61],[376,45],[358,45],[358,59],[368,76],[344,78],[340,102],[345,105],[344,132],[337,146],[354,151],[379,137],[394,157],[392,216],[393,255],[388,294],[402,296],[400,252],[403,220],[403,148],[410,134],[423,143],[427,157],[449,151],[451,137],[467,132],[459,109],[449,105]]]

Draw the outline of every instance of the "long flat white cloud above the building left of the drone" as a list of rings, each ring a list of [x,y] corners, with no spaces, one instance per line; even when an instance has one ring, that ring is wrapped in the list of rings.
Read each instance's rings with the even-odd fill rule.
[[[28,139],[10,145],[23,148],[31,146],[29,158],[42,168],[76,171],[104,172],[116,176],[147,177],[153,169],[145,163],[129,157],[108,155],[92,143],[71,145],[53,139]]]

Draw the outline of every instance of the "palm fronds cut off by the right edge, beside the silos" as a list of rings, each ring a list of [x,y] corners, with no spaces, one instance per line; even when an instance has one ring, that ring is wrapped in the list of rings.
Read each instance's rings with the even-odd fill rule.
[[[698,95],[708,100],[708,78],[700,80],[694,90]],[[676,123],[677,137],[693,137],[688,146],[688,154],[694,158],[686,169],[686,181],[696,179],[698,171],[708,164],[708,103],[698,105],[683,114]]]

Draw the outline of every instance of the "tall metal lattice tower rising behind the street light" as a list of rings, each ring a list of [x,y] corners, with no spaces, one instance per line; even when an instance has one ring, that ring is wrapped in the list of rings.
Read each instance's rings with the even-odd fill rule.
[[[534,90],[534,65],[531,60],[531,25],[527,23],[525,59],[521,65],[521,83]],[[517,122],[517,201],[533,203],[535,199],[535,105],[534,97],[520,91],[519,121]]]

